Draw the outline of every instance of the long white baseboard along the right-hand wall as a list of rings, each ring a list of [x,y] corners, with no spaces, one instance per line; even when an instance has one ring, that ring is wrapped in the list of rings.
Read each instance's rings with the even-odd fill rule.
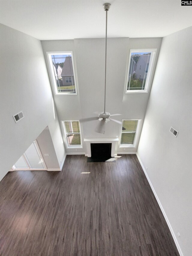
[[[137,158],[138,158],[138,160],[139,160],[139,162],[140,162],[140,164],[141,164],[141,167],[143,168],[143,171],[144,171],[145,176],[146,176],[146,178],[147,178],[147,180],[148,180],[148,182],[149,182],[149,185],[150,185],[151,188],[152,188],[153,194],[155,195],[155,198],[156,198],[156,200],[157,200],[157,202],[158,202],[158,204],[159,204],[159,207],[160,207],[160,209],[161,209],[161,211],[162,211],[162,213],[163,213],[163,215],[164,215],[164,218],[165,218],[165,220],[166,220],[166,222],[167,222],[167,225],[168,225],[168,227],[169,227],[169,229],[170,229],[170,231],[171,231],[171,234],[172,234],[172,236],[173,236],[173,239],[174,239],[174,241],[175,241],[175,244],[176,244],[176,246],[177,246],[177,249],[178,249],[178,251],[179,251],[179,254],[180,254],[181,256],[183,256],[183,253],[182,253],[182,250],[181,250],[181,248],[180,248],[180,246],[179,246],[179,243],[178,243],[178,241],[177,241],[176,235],[175,235],[175,233],[174,233],[174,231],[173,231],[173,228],[171,227],[171,224],[170,224],[170,222],[169,222],[169,220],[168,220],[168,218],[167,218],[167,215],[166,215],[166,213],[165,213],[165,211],[164,211],[164,209],[163,209],[163,206],[161,205],[161,202],[160,202],[160,200],[159,200],[159,198],[158,198],[158,195],[157,195],[156,192],[155,192],[155,189],[154,189],[154,187],[153,187],[153,185],[152,185],[152,183],[151,183],[151,181],[150,181],[150,179],[149,179],[149,176],[148,176],[147,173],[146,173],[146,170],[145,170],[145,168],[144,168],[144,166],[143,166],[143,164],[142,164],[142,162],[141,162],[141,159],[140,159],[139,155],[138,155],[137,153],[136,153],[136,155],[137,155]]]

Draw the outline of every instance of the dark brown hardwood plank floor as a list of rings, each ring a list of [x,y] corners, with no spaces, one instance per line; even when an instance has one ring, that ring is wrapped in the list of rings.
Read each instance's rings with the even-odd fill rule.
[[[61,172],[14,171],[0,182],[0,255],[179,253],[136,155],[67,155]]]

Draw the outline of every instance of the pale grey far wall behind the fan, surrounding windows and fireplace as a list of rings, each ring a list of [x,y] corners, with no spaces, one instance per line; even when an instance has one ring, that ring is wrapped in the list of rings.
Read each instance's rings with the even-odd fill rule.
[[[143,119],[151,89],[144,94],[125,94],[125,80],[130,49],[157,48],[155,66],[161,47],[162,38],[108,38],[107,40],[107,87],[106,111],[120,113],[115,119]],[[50,83],[46,52],[73,51],[77,95],[55,95],[55,105],[59,120],[79,120],[95,116],[94,112],[104,111],[104,76],[105,76],[105,38],[86,38],[74,40],[41,41]],[[120,140],[120,125],[112,121],[106,124],[105,134],[95,132],[98,121],[82,123],[82,140],[84,138],[116,138]],[[64,139],[65,140],[65,139]],[[137,152],[136,148],[119,148],[118,152]],[[66,149],[66,152],[85,152],[83,149]]]

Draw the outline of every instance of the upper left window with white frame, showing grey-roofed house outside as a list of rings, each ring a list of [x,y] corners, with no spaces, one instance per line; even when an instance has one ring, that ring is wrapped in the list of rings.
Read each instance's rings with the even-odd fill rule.
[[[72,52],[47,53],[55,94],[75,94],[76,82]]]

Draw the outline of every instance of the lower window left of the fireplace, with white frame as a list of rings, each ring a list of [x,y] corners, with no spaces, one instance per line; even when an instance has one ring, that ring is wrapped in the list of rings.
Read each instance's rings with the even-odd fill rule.
[[[66,136],[67,147],[81,146],[81,131],[79,121],[62,121],[62,125]]]

